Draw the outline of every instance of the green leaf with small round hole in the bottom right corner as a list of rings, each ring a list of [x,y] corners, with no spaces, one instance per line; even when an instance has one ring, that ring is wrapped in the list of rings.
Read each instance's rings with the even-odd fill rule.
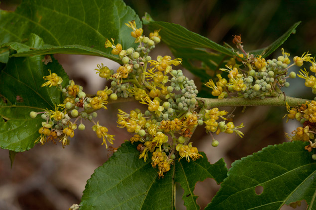
[[[316,210],[316,161],[305,145],[270,145],[235,161],[206,210],[277,210],[301,200]],[[257,186],[263,187],[259,195]]]

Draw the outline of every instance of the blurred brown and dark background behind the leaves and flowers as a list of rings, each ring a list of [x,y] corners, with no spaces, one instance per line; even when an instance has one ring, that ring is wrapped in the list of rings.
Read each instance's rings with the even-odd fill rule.
[[[271,44],[286,32],[295,22],[302,21],[296,34],[282,46],[286,52],[301,56],[310,51],[316,52],[316,4],[314,0],[124,0],[141,17],[148,12],[154,20],[178,23],[187,29],[208,37],[214,42],[232,44],[232,36],[242,36],[244,49],[251,51]],[[20,0],[1,0],[0,8],[14,10]],[[149,31],[144,26],[144,33]],[[151,55],[171,55],[168,47],[159,44]],[[281,55],[278,49],[269,58]],[[95,74],[97,64],[105,64],[117,69],[118,64],[104,58],[82,55],[55,55],[69,77],[84,87],[85,92],[94,93],[103,89],[106,82]],[[292,68],[293,70],[293,68]],[[296,71],[298,71],[297,69]],[[190,72],[185,74],[199,83],[199,79]],[[304,80],[290,80],[290,87],[284,89],[287,95],[313,99],[311,89],[304,88]],[[116,127],[116,110],[130,111],[138,103],[110,104],[108,110],[98,112],[100,124],[115,135],[113,147],[118,147],[131,137],[124,129]],[[227,108],[227,111],[233,109]],[[234,124],[243,123],[241,131],[244,138],[237,135],[219,135],[219,146],[211,146],[211,139],[203,127],[199,127],[192,139],[199,150],[204,151],[211,163],[223,157],[229,168],[231,163],[256,152],[269,144],[286,141],[284,133],[291,133],[298,124],[289,121],[285,124],[282,117],[285,107],[248,107],[242,113],[242,107],[234,111]],[[86,124],[86,127],[92,125]],[[94,170],[101,166],[112,152],[107,151],[102,140],[92,130],[78,132],[70,145],[37,144],[30,151],[18,153],[12,168],[8,151],[0,149],[0,210],[66,210],[72,204],[80,203],[86,181]],[[219,186],[207,179],[199,182],[195,194],[197,202],[204,209],[211,202]],[[183,190],[179,186],[177,209],[185,209],[181,199]],[[57,201],[57,202],[56,202]],[[302,209],[306,209],[306,204]],[[282,210],[291,209],[288,207]]]

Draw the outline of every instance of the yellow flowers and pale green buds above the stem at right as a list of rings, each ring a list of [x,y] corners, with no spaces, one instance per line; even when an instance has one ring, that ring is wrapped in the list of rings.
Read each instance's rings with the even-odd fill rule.
[[[238,36],[241,40],[241,37]],[[234,39],[235,40],[235,39]],[[311,58],[309,53],[303,54],[301,57],[294,57],[293,64],[290,64],[290,54],[284,52],[282,48],[282,56],[277,59],[265,60],[262,56],[255,56],[244,52],[239,42],[237,47],[244,54],[239,54],[235,58],[231,58],[226,68],[219,69],[228,73],[228,78],[222,78],[217,74],[217,82],[210,79],[205,85],[212,89],[211,94],[222,98],[261,98],[275,97],[282,93],[281,87],[289,87],[290,83],[287,78],[295,78],[294,71],[289,73],[292,66],[301,67],[304,62],[312,63],[311,70],[316,72],[315,59]],[[239,44],[238,44],[239,43]],[[246,69],[242,69],[246,67]],[[302,70],[299,77],[306,79],[306,85],[313,88],[316,93],[316,77],[309,76],[306,70]]]

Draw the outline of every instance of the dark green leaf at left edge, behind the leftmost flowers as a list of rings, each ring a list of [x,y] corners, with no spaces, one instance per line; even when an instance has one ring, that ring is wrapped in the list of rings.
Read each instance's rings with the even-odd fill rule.
[[[41,47],[43,40],[31,34],[30,47]],[[10,58],[0,72],[0,147],[13,151],[24,151],[34,146],[41,125],[40,114],[30,118],[31,111],[41,112],[46,108],[55,109],[62,102],[57,87],[41,87],[43,76],[48,70],[63,78],[62,85],[68,84],[68,76],[58,62],[44,65],[43,56]]]

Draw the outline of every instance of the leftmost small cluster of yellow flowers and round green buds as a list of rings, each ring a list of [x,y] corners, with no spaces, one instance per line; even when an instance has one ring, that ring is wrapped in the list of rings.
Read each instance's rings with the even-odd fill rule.
[[[100,71],[103,72],[103,70]],[[42,127],[38,130],[40,137],[35,140],[35,142],[40,142],[44,144],[46,141],[59,141],[62,143],[63,147],[69,144],[69,138],[73,138],[74,131],[85,130],[85,125],[83,120],[90,120],[92,122],[93,118],[97,117],[95,112],[98,109],[106,109],[108,94],[111,93],[110,90],[105,88],[104,90],[99,90],[94,97],[87,97],[86,93],[83,92],[83,87],[75,84],[73,80],[69,80],[69,84],[64,88],[61,86],[62,78],[56,73],[51,73],[50,75],[44,76],[46,81],[43,86],[59,86],[63,93],[63,103],[55,104],[54,110],[46,110],[44,112],[30,112],[30,117],[35,118],[38,114],[41,114],[41,118],[44,120],[42,122]],[[75,121],[72,122],[71,119],[74,118]],[[80,124],[77,126],[77,122]],[[95,123],[95,122],[94,122]],[[102,127],[98,123],[95,123],[93,130],[96,132],[99,138],[103,137],[103,143],[106,145],[106,141],[113,143],[113,136],[107,134],[107,129]]]

